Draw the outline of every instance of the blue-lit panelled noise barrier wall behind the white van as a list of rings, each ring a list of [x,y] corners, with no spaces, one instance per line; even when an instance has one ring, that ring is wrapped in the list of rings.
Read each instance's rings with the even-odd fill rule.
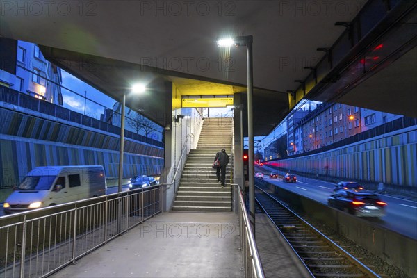
[[[114,134],[5,108],[0,119],[0,188],[44,165],[103,165],[108,178],[118,177],[120,139]],[[161,147],[126,138],[123,176],[161,174],[163,154]]]

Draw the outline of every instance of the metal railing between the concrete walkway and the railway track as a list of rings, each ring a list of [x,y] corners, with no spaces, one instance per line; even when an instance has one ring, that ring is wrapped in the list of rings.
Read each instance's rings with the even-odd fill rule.
[[[240,248],[242,250],[242,265],[245,277],[263,278],[263,268],[259,252],[255,243],[255,236],[250,227],[245,200],[240,189],[239,192],[239,224],[240,224]]]

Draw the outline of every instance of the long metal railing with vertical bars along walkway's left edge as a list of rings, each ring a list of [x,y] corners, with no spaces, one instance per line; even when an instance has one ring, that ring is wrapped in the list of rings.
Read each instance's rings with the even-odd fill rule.
[[[152,186],[2,217],[0,277],[47,277],[75,263],[160,213],[162,189]]]

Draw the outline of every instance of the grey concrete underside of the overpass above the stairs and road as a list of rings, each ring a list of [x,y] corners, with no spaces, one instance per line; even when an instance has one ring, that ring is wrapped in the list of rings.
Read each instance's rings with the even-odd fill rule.
[[[255,136],[302,99],[417,117],[415,1],[33,3],[2,2],[2,38],[40,44],[117,100],[149,83],[126,104],[161,126],[172,122],[173,84],[183,96],[245,94],[245,50],[215,44],[236,35],[254,36]]]

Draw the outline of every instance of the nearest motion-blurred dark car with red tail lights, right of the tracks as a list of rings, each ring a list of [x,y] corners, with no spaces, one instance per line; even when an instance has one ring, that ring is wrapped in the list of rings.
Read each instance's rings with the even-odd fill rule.
[[[359,217],[383,217],[386,202],[369,190],[339,189],[330,195],[327,204]]]

